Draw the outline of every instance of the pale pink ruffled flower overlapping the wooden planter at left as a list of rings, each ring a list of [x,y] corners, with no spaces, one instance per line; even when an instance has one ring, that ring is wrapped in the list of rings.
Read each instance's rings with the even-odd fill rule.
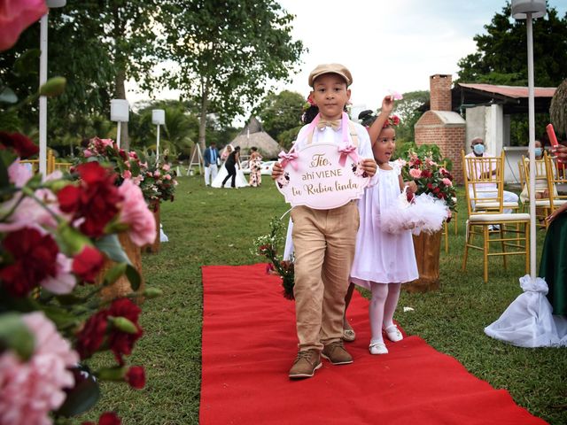
[[[124,198],[120,209],[120,223],[128,224],[128,236],[137,246],[153,243],[156,238],[156,220],[145,204],[142,190],[130,179],[118,188]]]

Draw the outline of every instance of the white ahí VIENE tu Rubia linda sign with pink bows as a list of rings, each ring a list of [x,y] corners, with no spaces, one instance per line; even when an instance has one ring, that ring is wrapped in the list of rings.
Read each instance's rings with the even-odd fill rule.
[[[319,115],[306,134],[315,131]],[[311,143],[300,151],[296,144],[289,153],[281,152],[283,175],[276,180],[277,189],[291,206],[306,205],[315,210],[328,210],[358,199],[369,184],[369,176],[361,168],[356,147],[348,139],[348,117],[341,123],[343,143]]]

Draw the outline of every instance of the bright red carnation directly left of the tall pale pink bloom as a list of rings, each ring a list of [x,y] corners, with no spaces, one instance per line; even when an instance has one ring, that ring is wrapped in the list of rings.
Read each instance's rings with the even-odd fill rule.
[[[64,213],[73,213],[74,220],[84,219],[80,228],[85,235],[103,236],[106,224],[116,216],[117,205],[122,200],[114,186],[116,174],[97,162],[81,164],[77,172],[81,185],[59,190],[59,207]]]

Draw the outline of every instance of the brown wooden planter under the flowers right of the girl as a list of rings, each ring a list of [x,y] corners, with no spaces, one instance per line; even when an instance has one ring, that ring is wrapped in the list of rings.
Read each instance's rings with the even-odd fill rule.
[[[422,232],[419,236],[413,236],[419,279],[401,285],[404,290],[408,292],[439,290],[441,233],[441,230],[439,230],[439,232],[433,234]]]

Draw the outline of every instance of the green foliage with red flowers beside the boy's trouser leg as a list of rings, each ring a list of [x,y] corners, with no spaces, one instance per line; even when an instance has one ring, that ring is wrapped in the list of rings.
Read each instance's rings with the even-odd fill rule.
[[[277,253],[277,247],[283,243],[283,223],[274,217],[270,223],[269,235],[257,237],[252,254],[261,255],[270,260],[266,273],[277,274],[282,278],[283,297],[293,299],[293,258],[284,260]]]

